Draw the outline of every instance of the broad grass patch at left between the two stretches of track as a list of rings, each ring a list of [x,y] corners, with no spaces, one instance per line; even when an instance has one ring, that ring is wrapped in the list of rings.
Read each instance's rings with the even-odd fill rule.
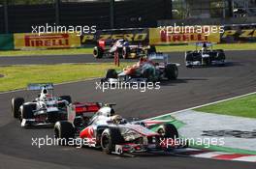
[[[112,63],[103,64],[63,64],[0,67],[0,92],[25,88],[28,83],[62,83],[103,77],[108,69],[120,70],[133,63],[121,63],[119,68]]]

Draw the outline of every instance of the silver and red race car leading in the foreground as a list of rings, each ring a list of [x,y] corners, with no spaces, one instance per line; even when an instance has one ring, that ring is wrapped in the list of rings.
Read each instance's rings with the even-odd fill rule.
[[[75,114],[73,111],[69,113]],[[73,118],[57,122],[54,133],[59,145],[76,146],[73,143],[78,143],[83,147],[102,149],[109,155],[168,152],[182,146],[176,144],[178,132],[171,123],[163,122],[152,129],[146,121],[128,122],[115,115],[112,106],[108,105],[103,106],[89,121]],[[167,144],[171,146],[167,147]]]

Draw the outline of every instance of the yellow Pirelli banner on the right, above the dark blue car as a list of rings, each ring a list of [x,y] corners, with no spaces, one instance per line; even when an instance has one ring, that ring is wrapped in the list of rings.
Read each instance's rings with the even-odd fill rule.
[[[209,29],[211,30],[210,27]],[[189,42],[220,42],[220,34],[219,31],[208,34],[203,31],[202,33],[167,33],[166,29],[149,28],[150,44],[177,44]]]

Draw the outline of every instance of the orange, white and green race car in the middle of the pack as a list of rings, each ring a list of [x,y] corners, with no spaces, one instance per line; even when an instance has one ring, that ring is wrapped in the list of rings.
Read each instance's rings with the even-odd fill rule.
[[[156,82],[163,79],[174,80],[177,78],[179,64],[169,63],[168,55],[154,53],[141,58],[140,61],[125,68],[123,71],[108,70],[102,82]]]

